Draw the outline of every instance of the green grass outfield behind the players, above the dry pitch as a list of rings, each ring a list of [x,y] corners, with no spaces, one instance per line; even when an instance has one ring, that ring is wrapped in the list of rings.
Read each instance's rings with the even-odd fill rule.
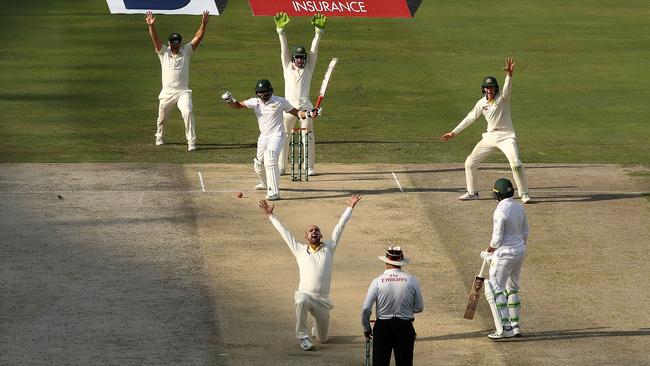
[[[185,151],[177,111],[156,147],[160,66],[143,15],[110,15],[103,0],[2,7],[0,162],[250,162],[254,115],[219,96],[252,96],[260,78],[283,95],[273,20],[230,0],[192,61],[200,150]],[[341,61],[317,122],[318,161],[462,162],[484,120],[448,143],[437,137],[474,105],[483,76],[503,81],[512,55],[525,163],[649,164],[648,19],[647,0],[424,0],[414,19],[330,18],[312,98],[328,60]],[[157,29],[189,39],[199,21],[159,15]],[[308,18],[292,19],[290,44],[312,35]]]

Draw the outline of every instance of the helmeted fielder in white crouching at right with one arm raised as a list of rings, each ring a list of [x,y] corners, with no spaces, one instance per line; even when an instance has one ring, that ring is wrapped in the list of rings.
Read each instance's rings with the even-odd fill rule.
[[[479,199],[476,177],[478,166],[494,149],[501,150],[506,158],[508,158],[521,201],[523,203],[530,201],[526,172],[524,171],[521,160],[519,160],[517,137],[515,135],[515,129],[512,126],[512,117],[510,115],[510,91],[512,90],[512,73],[514,69],[515,60],[510,57],[507,58],[504,68],[506,71],[506,81],[503,86],[503,91],[499,91],[499,84],[494,76],[486,77],[481,85],[485,97],[476,102],[474,108],[460,121],[453,131],[440,136],[442,141],[448,141],[471,125],[481,115],[484,115],[487,120],[487,132],[483,134],[481,141],[476,144],[472,153],[465,160],[467,193],[458,197],[461,201]]]

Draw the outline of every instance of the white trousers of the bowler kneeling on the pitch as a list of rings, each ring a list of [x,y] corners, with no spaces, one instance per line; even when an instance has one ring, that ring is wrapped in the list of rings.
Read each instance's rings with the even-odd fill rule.
[[[329,301],[300,291],[294,293],[293,299],[296,302],[296,338],[300,340],[310,336],[307,333],[307,314],[311,314],[314,317],[314,335],[320,343],[327,342],[332,310]]]

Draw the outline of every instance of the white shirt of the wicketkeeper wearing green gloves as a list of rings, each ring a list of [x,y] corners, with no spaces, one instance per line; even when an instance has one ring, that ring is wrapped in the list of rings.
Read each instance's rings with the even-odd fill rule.
[[[314,39],[311,42],[311,49],[307,55],[305,67],[302,69],[293,64],[284,31],[278,31],[278,36],[280,37],[280,57],[282,59],[282,71],[284,74],[284,96],[296,108],[312,109],[314,106],[309,100],[309,89],[311,87],[314,69],[316,68],[321,33],[316,30]]]

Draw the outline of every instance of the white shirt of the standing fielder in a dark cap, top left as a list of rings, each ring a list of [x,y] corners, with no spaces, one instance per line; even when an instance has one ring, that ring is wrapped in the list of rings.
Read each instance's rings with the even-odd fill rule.
[[[160,67],[162,70],[162,90],[158,98],[169,98],[174,94],[190,90],[190,60],[194,50],[192,44],[187,43],[173,54],[168,46],[163,46],[158,51]]]

